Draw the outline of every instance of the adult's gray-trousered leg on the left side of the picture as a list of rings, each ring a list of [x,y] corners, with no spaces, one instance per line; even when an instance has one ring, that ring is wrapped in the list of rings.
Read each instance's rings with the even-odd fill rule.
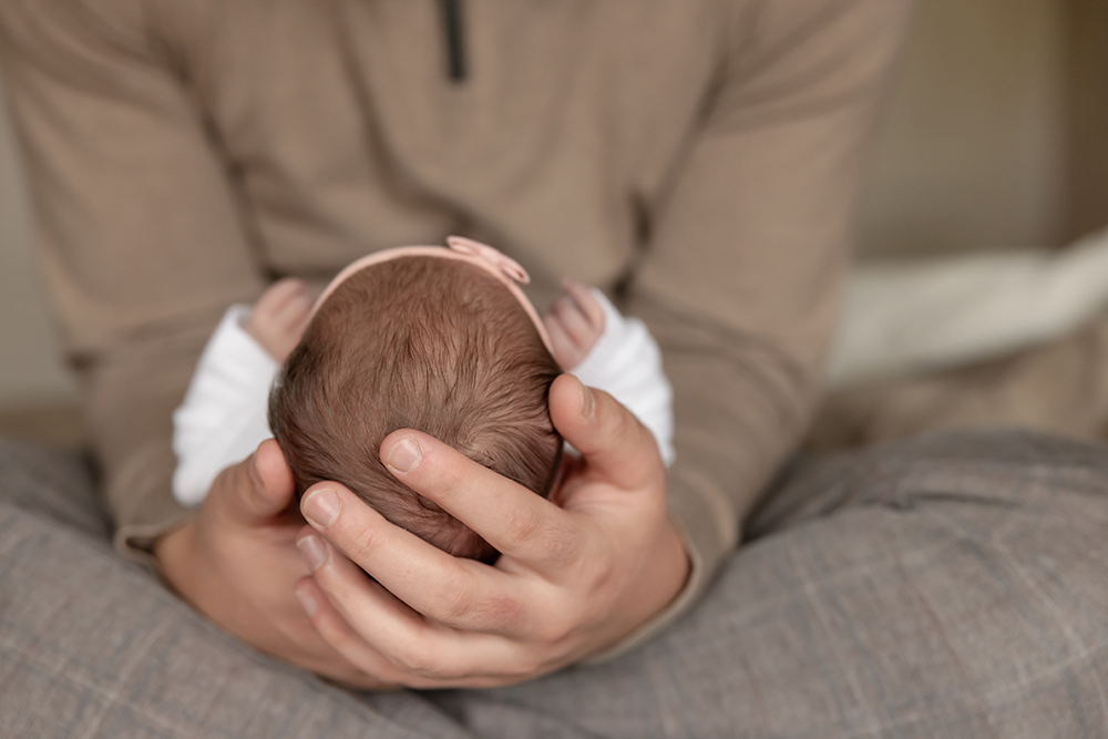
[[[0,441],[0,736],[465,736],[222,633],[112,551],[79,458]]]

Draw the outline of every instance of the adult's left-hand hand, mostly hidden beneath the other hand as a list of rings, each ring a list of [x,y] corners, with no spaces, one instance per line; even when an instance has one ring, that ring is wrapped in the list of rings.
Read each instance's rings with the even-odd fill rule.
[[[196,519],[154,546],[162,573],[197,610],[257,649],[359,687],[381,682],[320,638],[294,595],[304,519],[276,441],[220,473]]]

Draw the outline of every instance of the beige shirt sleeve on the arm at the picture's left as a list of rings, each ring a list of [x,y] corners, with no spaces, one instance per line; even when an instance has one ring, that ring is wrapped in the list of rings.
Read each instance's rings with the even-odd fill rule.
[[[233,177],[156,3],[0,3],[0,63],[40,252],[124,553],[188,515],[170,418],[219,315],[263,281]],[[203,218],[196,214],[203,213]]]

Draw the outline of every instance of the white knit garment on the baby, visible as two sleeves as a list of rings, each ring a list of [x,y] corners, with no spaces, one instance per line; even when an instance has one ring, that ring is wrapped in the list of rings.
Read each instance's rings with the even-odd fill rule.
[[[620,316],[599,290],[594,295],[604,307],[604,333],[572,372],[627,407],[654,434],[668,466],[674,461],[673,391],[661,352],[640,320]],[[227,310],[173,414],[173,496],[182,505],[199,505],[219,472],[273,437],[266,409],[278,366],[243,328],[249,314],[249,306]]]

